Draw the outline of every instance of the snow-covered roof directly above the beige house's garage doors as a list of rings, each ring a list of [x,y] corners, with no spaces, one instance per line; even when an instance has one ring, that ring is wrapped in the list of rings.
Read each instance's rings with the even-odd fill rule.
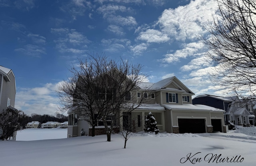
[[[192,110],[192,111],[218,111],[218,112],[225,112],[224,110],[206,106],[206,105],[201,105],[201,104],[163,104],[165,108],[168,110]]]

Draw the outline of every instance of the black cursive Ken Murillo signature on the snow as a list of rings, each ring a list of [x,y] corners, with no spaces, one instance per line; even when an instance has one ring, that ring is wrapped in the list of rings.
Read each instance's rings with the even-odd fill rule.
[[[196,154],[192,155],[192,153],[187,154],[186,157],[180,159],[180,163],[191,162],[192,164],[196,164],[197,162],[216,162],[216,163],[223,163],[223,162],[243,162],[244,158],[241,156],[232,156],[232,157],[222,157],[222,154],[206,154],[203,158],[198,157],[201,152],[197,152]]]

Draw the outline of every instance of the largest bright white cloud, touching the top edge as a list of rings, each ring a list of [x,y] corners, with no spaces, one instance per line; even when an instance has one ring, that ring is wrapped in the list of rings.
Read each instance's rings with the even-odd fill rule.
[[[202,25],[216,9],[216,3],[209,0],[194,0],[186,6],[166,9],[157,24],[162,32],[179,41],[196,40],[199,33],[204,32]]]

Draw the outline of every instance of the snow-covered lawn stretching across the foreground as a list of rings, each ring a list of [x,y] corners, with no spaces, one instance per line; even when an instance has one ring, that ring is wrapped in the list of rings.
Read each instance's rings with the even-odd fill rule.
[[[64,130],[41,131],[49,131],[52,136],[59,136]],[[248,130],[250,136],[246,135]],[[35,131],[38,129],[21,131],[17,138],[21,133],[32,137],[29,133]],[[106,135],[62,139],[52,137],[52,140],[36,141],[0,141],[0,165],[255,166],[256,136],[252,136],[252,133],[256,133],[256,128],[240,128],[229,133],[211,134],[140,133],[130,137],[126,149],[123,148],[124,141],[118,134],[112,135],[111,142],[106,142]],[[216,160],[215,157],[212,158],[215,154],[216,158],[220,156]],[[221,161],[224,161],[223,158],[229,159],[221,162],[221,158]]]

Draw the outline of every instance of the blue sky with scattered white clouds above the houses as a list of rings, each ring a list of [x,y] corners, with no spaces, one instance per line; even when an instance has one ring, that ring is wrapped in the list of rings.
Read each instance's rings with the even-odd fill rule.
[[[142,64],[149,82],[176,76],[195,96],[218,95],[197,38],[215,10],[212,0],[0,0],[0,65],[15,74],[15,108],[54,114],[58,82],[97,52]]]

